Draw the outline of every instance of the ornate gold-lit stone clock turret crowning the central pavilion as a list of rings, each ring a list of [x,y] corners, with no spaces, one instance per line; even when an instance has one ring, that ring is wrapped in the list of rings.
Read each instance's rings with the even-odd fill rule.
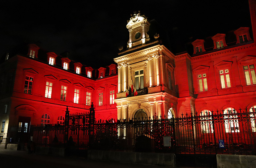
[[[129,30],[128,48],[144,44],[149,41],[149,35],[147,32],[149,30],[150,23],[148,22],[147,17],[142,15],[139,11],[137,14],[134,13],[127,22],[126,27]]]

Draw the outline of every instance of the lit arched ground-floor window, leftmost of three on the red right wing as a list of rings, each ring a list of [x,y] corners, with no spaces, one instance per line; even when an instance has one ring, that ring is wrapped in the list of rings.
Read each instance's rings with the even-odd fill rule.
[[[200,116],[202,133],[213,133],[212,112],[210,110],[203,110]]]

